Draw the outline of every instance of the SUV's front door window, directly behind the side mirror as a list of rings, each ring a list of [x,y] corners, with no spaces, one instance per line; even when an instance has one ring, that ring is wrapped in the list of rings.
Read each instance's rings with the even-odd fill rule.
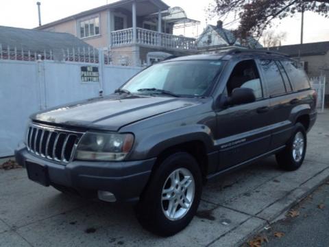
[[[263,88],[254,60],[243,60],[234,67],[226,85],[226,93],[229,97],[236,88],[252,89],[256,99],[263,97]]]

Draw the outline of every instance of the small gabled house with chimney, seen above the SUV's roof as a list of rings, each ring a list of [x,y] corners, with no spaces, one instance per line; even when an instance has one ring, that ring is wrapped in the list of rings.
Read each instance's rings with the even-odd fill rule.
[[[217,25],[207,25],[204,32],[200,34],[196,41],[197,49],[201,53],[216,53],[221,49],[230,47],[261,48],[263,47],[252,37],[247,38],[241,45],[241,40],[234,36],[231,30],[223,28],[223,22],[217,21]]]

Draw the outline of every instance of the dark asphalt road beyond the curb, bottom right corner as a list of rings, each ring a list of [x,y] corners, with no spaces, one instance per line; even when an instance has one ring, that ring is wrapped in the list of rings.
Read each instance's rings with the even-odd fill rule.
[[[329,246],[329,180],[293,208],[299,212],[296,217],[287,217],[271,225],[259,235],[266,236],[266,247]],[[275,237],[275,233],[284,233]]]

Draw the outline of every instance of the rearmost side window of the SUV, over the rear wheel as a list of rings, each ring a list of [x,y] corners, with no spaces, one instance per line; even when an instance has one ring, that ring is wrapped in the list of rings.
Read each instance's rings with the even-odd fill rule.
[[[307,75],[301,65],[291,60],[283,60],[281,63],[283,64],[295,91],[310,89],[310,82],[308,81]]]

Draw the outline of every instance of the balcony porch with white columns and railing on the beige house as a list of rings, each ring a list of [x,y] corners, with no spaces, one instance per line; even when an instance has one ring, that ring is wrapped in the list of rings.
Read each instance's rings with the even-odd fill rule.
[[[196,39],[173,35],[175,25],[199,21],[188,19],[182,8],[169,8],[160,0],[122,2],[112,8],[108,19],[110,25],[109,47],[141,45],[176,51],[197,51]]]

